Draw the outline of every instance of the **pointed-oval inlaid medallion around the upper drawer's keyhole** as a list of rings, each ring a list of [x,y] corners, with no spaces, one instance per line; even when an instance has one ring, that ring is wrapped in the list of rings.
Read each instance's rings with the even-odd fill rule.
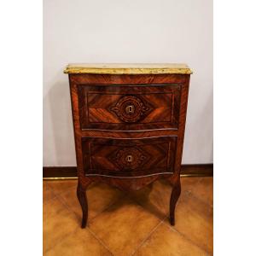
[[[115,113],[119,119],[127,122],[134,123],[150,113],[153,108],[148,103],[144,103],[137,96],[124,96],[119,99],[119,102],[110,110]]]

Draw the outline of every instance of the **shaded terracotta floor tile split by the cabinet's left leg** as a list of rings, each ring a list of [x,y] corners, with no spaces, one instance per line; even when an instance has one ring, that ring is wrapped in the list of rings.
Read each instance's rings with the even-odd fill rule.
[[[88,201],[88,221],[105,210],[110,204],[124,197],[124,193],[119,189],[114,189],[105,183],[92,183],[86,190]],[[60,195],[61,199],[75,212],[81,220],[82,210],[77,199],[76,187],[67,189]]]

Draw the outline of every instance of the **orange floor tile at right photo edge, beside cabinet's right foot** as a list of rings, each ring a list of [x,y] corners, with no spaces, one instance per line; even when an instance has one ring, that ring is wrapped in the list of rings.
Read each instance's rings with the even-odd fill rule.
[[[173,228],[212,253],[212,213],[212,207],[208,204],[191,195],[183,195],[176,207],[176,223]],[[165,224],[170,225],[169,219],[166,219]]]

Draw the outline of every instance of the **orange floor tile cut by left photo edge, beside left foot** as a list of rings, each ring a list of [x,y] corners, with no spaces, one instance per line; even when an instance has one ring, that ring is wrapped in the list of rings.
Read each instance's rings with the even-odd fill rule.
[[[57,197],[44,204],[43,218],[44,252],[80,227],[75,214],[68,211]]]

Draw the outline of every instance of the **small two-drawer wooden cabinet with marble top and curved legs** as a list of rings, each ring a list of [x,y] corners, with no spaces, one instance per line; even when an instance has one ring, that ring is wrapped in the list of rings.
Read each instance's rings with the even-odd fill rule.
[[[170,223],[181,193],[180,168],[192,73],[185,64],[70,64],[68,73],[82,207],[93,181],[137,190],[172,184]]]

